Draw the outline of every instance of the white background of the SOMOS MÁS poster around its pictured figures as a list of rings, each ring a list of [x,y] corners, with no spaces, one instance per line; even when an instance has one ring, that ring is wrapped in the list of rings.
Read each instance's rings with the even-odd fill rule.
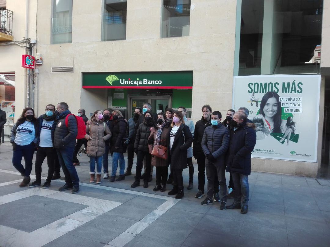
[[[297,87],[299,82],[302,84],[300,84],[300,87]],[[266,91],[262,92],[260,90],[260,83],[263,86],[265,85],[264,83],[266,83]],[[278,83],[276,84],[278,85],[278,95],[280,96],[280,101],[282,99],[279,106],[286,109],[285,112],[292,113],[293,121],[296,123],[297,128],[294,134],[299,134],[299,139],[297,143],[289,141],[289,145],[287,146],[286,139],[281,143],[272,135],[268,135],[262,140],[257,140],[254,151],[252,152],[252,157],[316,162],[321,76],[234,76],[233,109],[237,110],[239,107],[248,108],[248,118],[252,120],[260,109],[260,101],[265,93],[268,92],[268,84],[270,83],[273,83],[273,90],[271,90],[271,86],[269,88],[271,91],[277,90],[274,88],[274,85]],[[283,90],[283,83],[285,86],[287,86],[287,83],[290,83],[289,92],[285,92],[285,89]],[[295,84],[295,88],[291,91],[292,84]],[[256,102],[252,102],[251,106],[251,89],[252,91],[258,90],[255,92],[255,98],[258,99],[259,107],[256,106]],[[296,92],[294,92],[294,89],[296,89]],[[301,89],[302,92],[298,93]],[[286,105],[286,103],[290,106]],[[293,103],[293,105],[290,103]],[[285,106],[283,106],[284,104]]]

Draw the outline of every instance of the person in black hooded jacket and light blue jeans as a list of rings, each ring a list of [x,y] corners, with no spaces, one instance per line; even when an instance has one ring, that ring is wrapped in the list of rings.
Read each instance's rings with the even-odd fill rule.
[[[110,182],[114,182],[116,179],[116,173],[119,160],[119,177],[116,181],[125,179],[125,160],[124,153],[126,152],[126,145],[123,143],[123,139],[126,138],[127,122],[119,110],[112,112],[113,129],[111,138],[111,151],[112,156],[112,171]]]

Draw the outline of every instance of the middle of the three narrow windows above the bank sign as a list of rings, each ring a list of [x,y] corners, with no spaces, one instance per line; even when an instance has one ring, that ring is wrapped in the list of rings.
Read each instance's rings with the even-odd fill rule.
[[[127,0],[104,0],[102,41],[126,39]]]

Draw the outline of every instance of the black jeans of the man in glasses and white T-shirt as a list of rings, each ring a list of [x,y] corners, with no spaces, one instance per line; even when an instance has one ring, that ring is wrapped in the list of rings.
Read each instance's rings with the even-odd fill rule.
[[[41,172],[42,172],[41,166],[46,157],[47,157],[47,165],[48,165],[48,175],[46,182],[51,182],[51,177],[53,176],[54,173],[55,156],[57,156],[57,154],[54,148],[38,147],[36,154],[36,162],[34,164],[34,170],[36,172],[37,182],[41,182]]]

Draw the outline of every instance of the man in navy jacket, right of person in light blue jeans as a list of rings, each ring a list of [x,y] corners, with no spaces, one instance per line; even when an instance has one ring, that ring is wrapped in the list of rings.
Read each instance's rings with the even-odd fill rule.
[[[127,145],[127,168],[125,176],[132,174],[133,160],[134,160],[134,142],[136,137],[136,132],[138,130],[139,117],[142,114],[142,108],[136,107],[134,109],[133,117],[127,121],[127,131],[126,135],[129,139],[129,144]]]

